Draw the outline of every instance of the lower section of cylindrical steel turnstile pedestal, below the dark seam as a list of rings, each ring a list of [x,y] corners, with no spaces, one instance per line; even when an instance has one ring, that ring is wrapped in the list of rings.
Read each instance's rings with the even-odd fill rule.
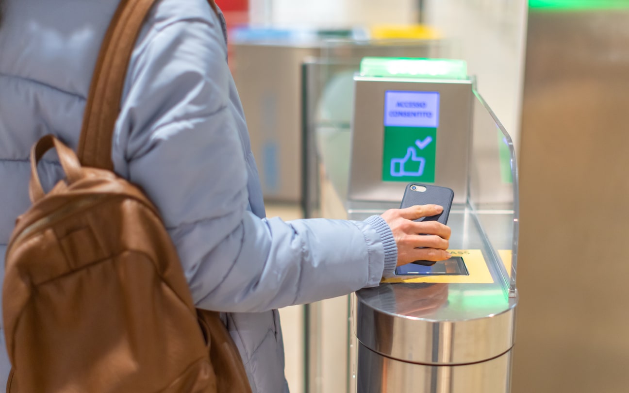
[[[400,362],[359,344],[358,393],[509,392],[511,351],[486,362],[431,366]]]

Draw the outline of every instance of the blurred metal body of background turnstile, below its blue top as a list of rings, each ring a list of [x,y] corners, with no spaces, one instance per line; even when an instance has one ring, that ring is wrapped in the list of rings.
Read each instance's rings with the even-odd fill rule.
[[[316,47],[233,44],[233,76],[265,199],[301,196],[301,64]]]

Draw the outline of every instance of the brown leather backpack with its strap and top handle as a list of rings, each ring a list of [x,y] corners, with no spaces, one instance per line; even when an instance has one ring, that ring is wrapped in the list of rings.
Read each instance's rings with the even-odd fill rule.
[[[218,313],[195,309],[157,209],[112,172],[128,60],[154,0],[123,0],[101,47],[79,157],[52,135],[31,150],[33,206],[6,255],[7,391],[250,393]],[[55,148],[66,178],[37,174]]]

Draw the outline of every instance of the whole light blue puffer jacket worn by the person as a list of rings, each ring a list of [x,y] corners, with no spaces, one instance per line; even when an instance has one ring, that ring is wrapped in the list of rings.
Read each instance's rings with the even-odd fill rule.
[[[118,0],[5,0],[0,26],[0,263],[30,206],[28,154],[48,133],[75,148]],[[253,392],[287,392],[277,307],[377,285],[396,263],[382,218],[265,219],[224,23],[204,0],[160,0],[127,74],[112,158],[162,213],[199,307],[222,311]],[[53,155],[40,165],[60,179]],[[2,272],[3,269],[0,269]],[[10,296],[10,294],[8,294]],[[0,385],[9,363],[0,348]]]

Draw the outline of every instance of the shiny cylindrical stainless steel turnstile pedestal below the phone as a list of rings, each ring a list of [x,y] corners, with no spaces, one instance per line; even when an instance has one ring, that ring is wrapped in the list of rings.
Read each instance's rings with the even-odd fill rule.
[[[448,310],[448,285],[454,284],[382,284],[353,296],[353,391],[509,391],[515,299],[501,313],[466,319],[474,307]],[[487,295],[489,300],[496,294]],[[482,305],[483,294],[472,296]],[[438,319],[445,313],[450,318]]]

